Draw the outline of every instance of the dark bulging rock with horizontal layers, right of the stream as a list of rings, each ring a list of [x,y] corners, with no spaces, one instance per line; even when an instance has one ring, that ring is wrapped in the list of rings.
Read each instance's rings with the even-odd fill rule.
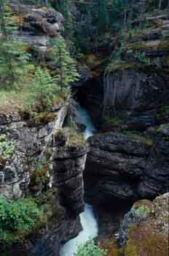
[[[168,187],[168,140],[107,132],[90,138],[85,180],[90,197],[135,201]]]

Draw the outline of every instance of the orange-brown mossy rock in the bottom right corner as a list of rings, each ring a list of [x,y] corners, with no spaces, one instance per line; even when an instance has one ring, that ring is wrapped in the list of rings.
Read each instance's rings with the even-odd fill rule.
[[[147,216],[138,225],[130,225],[124,256],[168,256],[168,199],[169,194],[165,194],[153,202],[134,204],[135,211],[144,208]]]

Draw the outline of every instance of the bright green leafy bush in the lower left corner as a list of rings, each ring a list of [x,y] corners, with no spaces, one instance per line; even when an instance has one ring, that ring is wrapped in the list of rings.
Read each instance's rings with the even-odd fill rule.
[[[44,214],[31,198],[0,199],[0,243],[13,244],[42,225]]]

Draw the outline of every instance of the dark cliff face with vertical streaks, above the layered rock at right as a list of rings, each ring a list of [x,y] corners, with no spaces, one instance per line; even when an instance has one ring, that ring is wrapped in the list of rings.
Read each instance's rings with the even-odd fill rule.
[[[168,105],[168,80],[154,72],[121,69],[104,80],[103,117],[125,115],[129,129],[157,124],[157,108]]]

